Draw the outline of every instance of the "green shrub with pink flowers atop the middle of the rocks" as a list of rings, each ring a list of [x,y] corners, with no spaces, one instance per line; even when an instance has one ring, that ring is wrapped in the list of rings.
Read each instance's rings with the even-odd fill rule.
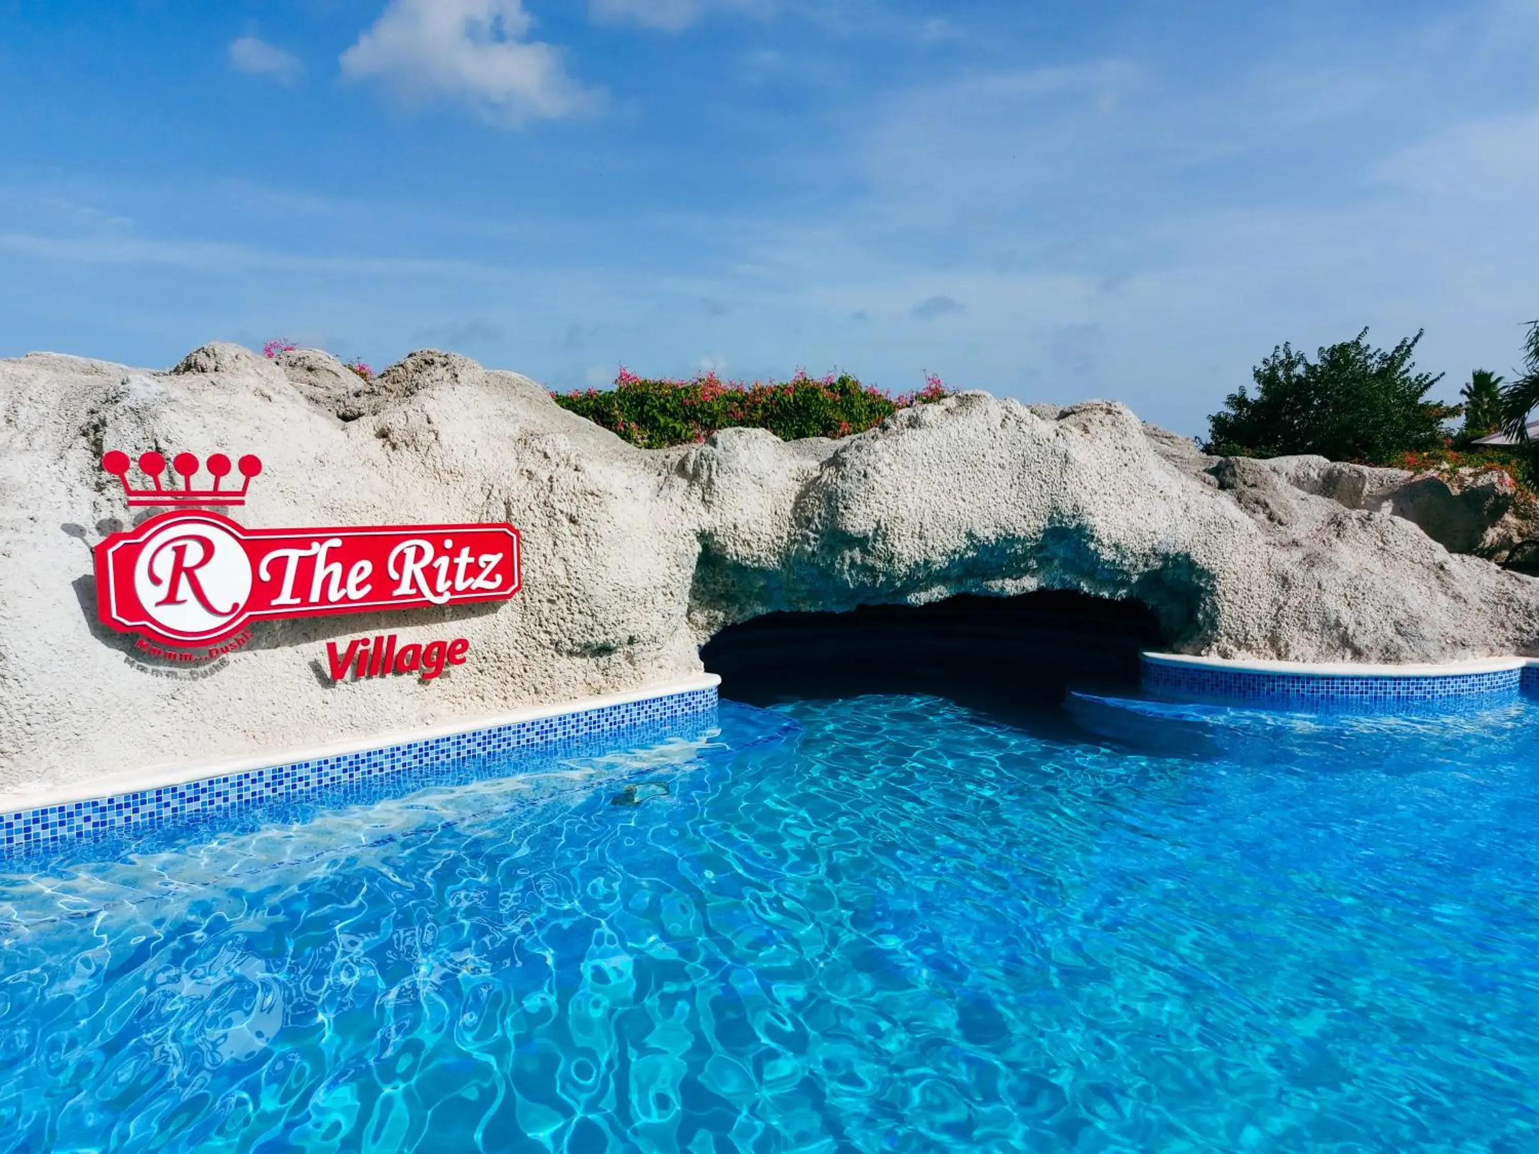
[[[900,408],[951,395],[931,374],[919,392],[890,397],[850,374],[783,383],[722,382],[714,372],[694,380],[649,380],[620,369],[613,389],[553,392],[563,409],[586,417],[643,449],[702,442],[717,429],[768,429],[780,440],[848,437],[879,425]]]

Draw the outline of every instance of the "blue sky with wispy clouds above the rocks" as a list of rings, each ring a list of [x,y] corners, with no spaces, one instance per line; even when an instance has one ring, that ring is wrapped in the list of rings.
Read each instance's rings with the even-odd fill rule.
[[[0,0],[0,355],[925,371],[1199,434],[1539,315],[1539,0]]]

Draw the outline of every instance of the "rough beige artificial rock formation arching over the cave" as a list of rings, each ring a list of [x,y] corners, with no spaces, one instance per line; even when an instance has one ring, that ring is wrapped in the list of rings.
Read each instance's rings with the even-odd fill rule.
[[[674,680],[714,631],[779,609],[1070,588],[1139,599],[1185,652],[1434,662],[1539,640],[1539,583],[1373,508],[1394,479],[1203,457],[1110,402],[968,392],[837,442],[642,451],[445,352],[363,382],[323,352],[209,345],[166,372],[0,362],[0,794]],[[105,449],[259,454],[232,512],[252,526],[508,520],[525,588],[259,622],[203,675],[166,671],[95,620],[89,549],[137,520]],[[463,635],[469,662],[332,683],[325,643],[379,632]]]

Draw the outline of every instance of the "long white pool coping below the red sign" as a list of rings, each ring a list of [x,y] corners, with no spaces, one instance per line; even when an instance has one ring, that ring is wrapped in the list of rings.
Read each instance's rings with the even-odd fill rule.
[[[275,749],[254,754],[252,757],[223,759],[206,762],[188,762],[177,765],[143,766],[112,774],[98,774],[68,785],[45,789],[20,789],[0,794],[0,814],[20,812],[23,809],[43,809],[54,805],[74,805],[75,802],[91,802],[100,797],[142,792],[146,789],[163,789],[166,786],[189,785],[209,779],[240,774],[249,769],[275,769],[295,762],[315,762],[323,757],[340,757],[359,754],[368,749],[386,749],[392,745],[411,745],[436,737],[452,737],[454,734],[476,732],[479,729],[496,729],[520,722],[536,722],[545,717],[560,717],[562,714],[580,714],[589,709],[603,709],[633,702],[648,702],[654,697],[674,697],[677,694],[713,689],[722,683],[716,674],[697,674],[679,682],[657,682],[643,685],[639,689],[626,689],[619,694],[603,697],[579,697],[568,702],[551,702],[548,705],[529,705],[500,714],[485,714],[477,717],[456,717],[451,722],[439,722],[416,729],[396,729],[382,734],[352,737],[345,742],[329,742],[295,749]]]

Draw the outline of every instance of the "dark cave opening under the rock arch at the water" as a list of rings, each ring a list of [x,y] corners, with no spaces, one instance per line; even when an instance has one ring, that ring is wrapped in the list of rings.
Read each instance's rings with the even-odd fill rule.
[[[748,705],[925,694],[1016,715],[1059,705],[1070,686],[1128,691],[1139,651],[1159,648],[1143,603],[1051,589],[773,612],[722,629],[700,659],[723,697]]]

